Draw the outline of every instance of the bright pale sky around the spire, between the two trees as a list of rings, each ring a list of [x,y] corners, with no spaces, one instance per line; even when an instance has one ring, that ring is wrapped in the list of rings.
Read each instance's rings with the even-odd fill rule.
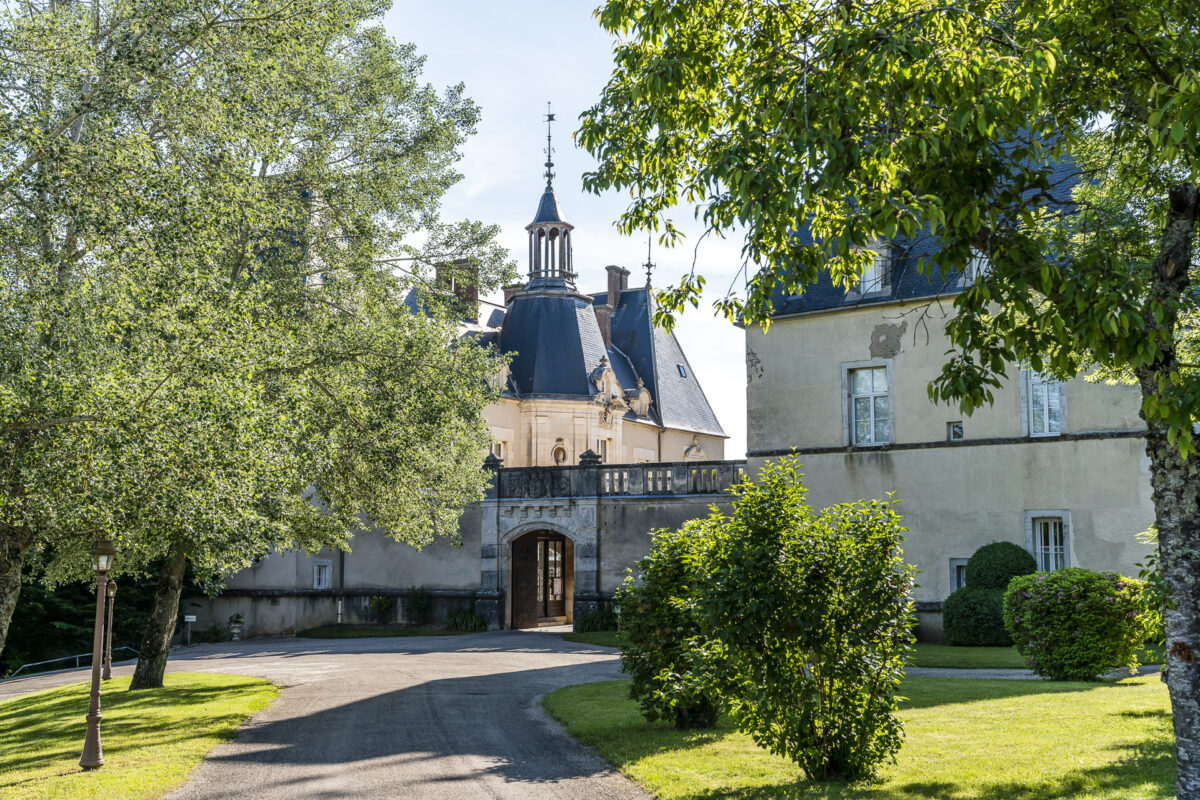
[[[533,219],[545,186],[546,102],[557,121],[554,192],[563,216],[575,225],[575,269],[584,293],[607,285],[604,267],[630,270],[630,284],[644,281],[647,239],[617,233],[614,222],[629,197],[583,191],[583,173],[594,160],[576,148],[571,133],[578,116],[600,97],[612,72],[612,41],[592,16],[593,0],[528,2],[505,0],[395,0],[383,23],[397,41],[413,42],[426,56],[424,79],[443,88],[463,83],[482,112],[479,132],[463,148],[463,180],[443,203],[443,218],[479,219],[502,228],[500,242],[528,270],[524,227]],[[710,301],[734,279],[742,258],[740,236],[703,233],[690,207],[672,215],[688,237],[676,248],[654,243],[653,283],[666,288],[696,259],[709,293],[698,309],[689,308],[676,325],[692,371],[730,437],[726,458],[745,456],[744,333],[713,315]],[[498,297],[490,297],[498,300]]]

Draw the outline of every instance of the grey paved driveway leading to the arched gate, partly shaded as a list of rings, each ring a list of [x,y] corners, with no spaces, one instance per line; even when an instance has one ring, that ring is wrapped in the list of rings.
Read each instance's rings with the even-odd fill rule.
[[[616,651],[551,632],[257,639],[176,651],[168,669],[283,690],[168,800],[649,796],[542,711],[553,688],[619,678]],[[0,684],[0,700],[84,675]]]

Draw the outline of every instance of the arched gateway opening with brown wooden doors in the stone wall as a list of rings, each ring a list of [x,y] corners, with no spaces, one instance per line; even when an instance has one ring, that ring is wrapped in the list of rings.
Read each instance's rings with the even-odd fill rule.
[[[512,627],[566,622],[570,589],[566,537],[533,531],[512,542]]]

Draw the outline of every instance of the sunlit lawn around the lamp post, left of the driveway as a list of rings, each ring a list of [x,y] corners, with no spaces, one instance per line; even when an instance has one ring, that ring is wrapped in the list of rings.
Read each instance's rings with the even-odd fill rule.
[[[278,690],[244,675],[168,674],[157,691],[104,681],[104,765],[84,772],[79,753],[90,684],[0,703],[0,798],[140,800],[179,786],[205,753],[229,741]]]

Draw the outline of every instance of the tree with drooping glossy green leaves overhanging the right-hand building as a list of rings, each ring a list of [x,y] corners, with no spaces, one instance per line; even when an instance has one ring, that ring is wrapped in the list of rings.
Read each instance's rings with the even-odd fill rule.
[[[878,240],[940,242],[991,270],[955,296],[958,348],[930,387],[970,413],[1010,365],[1092,369],[1142,396],[1178,795],[1200,798],[1200,422],[1196,277],[1200,17],[1195,4],[1022,0],[611,0],[616,70],[583,116],[593,191],[628,190],[624,231],[745,230],[744,295],[828,269],[847,284]],[[811,235],[797,235],[806,229]],[[702,276],[662,293],[661,321]]]

